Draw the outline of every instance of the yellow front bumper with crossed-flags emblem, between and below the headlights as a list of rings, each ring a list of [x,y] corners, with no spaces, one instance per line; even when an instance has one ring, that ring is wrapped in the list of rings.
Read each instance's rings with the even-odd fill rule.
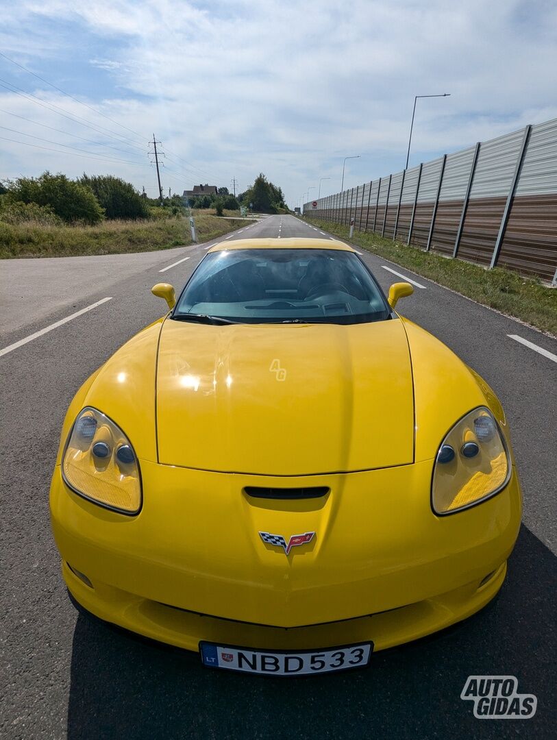
[[[376,650],[391,647],[493,598],[519,530],[514,471],[493,499],[436,517],[432,464],[286,480],[142,461],[137,517],[78,497],[56,468],[50,501],[64,579],[101,619],[189,650],[201,639],[277,649],[371,639]],[[246,485],[331,491],[269,501],[251,499]],[[317,535],[286,557],[259,531]]]

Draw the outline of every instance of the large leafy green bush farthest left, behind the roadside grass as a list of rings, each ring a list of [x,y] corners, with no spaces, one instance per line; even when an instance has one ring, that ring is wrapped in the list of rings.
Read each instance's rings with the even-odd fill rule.
[[[69,180],[66,175],[43,172],[39,178],[18,178],[8,183],[4,196],[9,203],[37,203],[49,206],[66,223],[99,223],[104,211],[92,190]]]

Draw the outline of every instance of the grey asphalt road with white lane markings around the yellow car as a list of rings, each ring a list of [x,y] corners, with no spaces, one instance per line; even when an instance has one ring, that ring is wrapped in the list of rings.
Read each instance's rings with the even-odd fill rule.
[[[278,235],[328,236],[294,217],[272,216],[229,238]],[[152,285],[181,287],[206,246],[127,262],[88,258],[87,280],[67,280],[63,296],[51,290],[29,314],[21,303],[2,327],[0,350],[111,299],[0,354],[0,736],[553,738],[557,363],[508,334],[552,354],[557,342],[374,255],[362,259],[385,290],[401,278],[384,266],[425,286],[398,308],[479,371],[507,411],[524,525],[499,596],[453,628],[376,653],[368,670],[292,682],[203,669],[193,653],[116,630],[72,605],[48,517],[64,412],[94,369],[163,314]],[[21,296],[34,296],[44,275],[37,260],[26,261],[18,287]],[[538,697],[536,716],[475,719],[470,702],[459,698],[469,675],[516,676],[519,691]]]

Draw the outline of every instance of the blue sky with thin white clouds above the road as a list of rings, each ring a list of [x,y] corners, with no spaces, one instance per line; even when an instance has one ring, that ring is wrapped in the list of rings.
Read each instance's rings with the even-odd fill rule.
[[[155,197],[155,135],[165,195],[264,172],[294,207],[339,192],[346,156],[345,188],[402,170],[414,95],[450,93],[417,102],[409,166],[557,118],[554,0],[0,0],[0,17],[0,180],[113,174]]]

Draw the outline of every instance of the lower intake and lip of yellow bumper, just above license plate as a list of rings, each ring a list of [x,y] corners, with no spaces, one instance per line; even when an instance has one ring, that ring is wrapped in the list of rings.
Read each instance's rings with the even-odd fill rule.
[[[303,650],[371,640],[375,651],[442,630],[480,610],[501,588],[507,563],[502,563],[482,586],[475,581],[433,599],[388,612],[286,629],[176,609],[105,583],[95,583],[95,588],[91,589],[65,562],[62,573],[72,596],[95,616],[186,650],[197,652],[202,640],[267,650]]]

